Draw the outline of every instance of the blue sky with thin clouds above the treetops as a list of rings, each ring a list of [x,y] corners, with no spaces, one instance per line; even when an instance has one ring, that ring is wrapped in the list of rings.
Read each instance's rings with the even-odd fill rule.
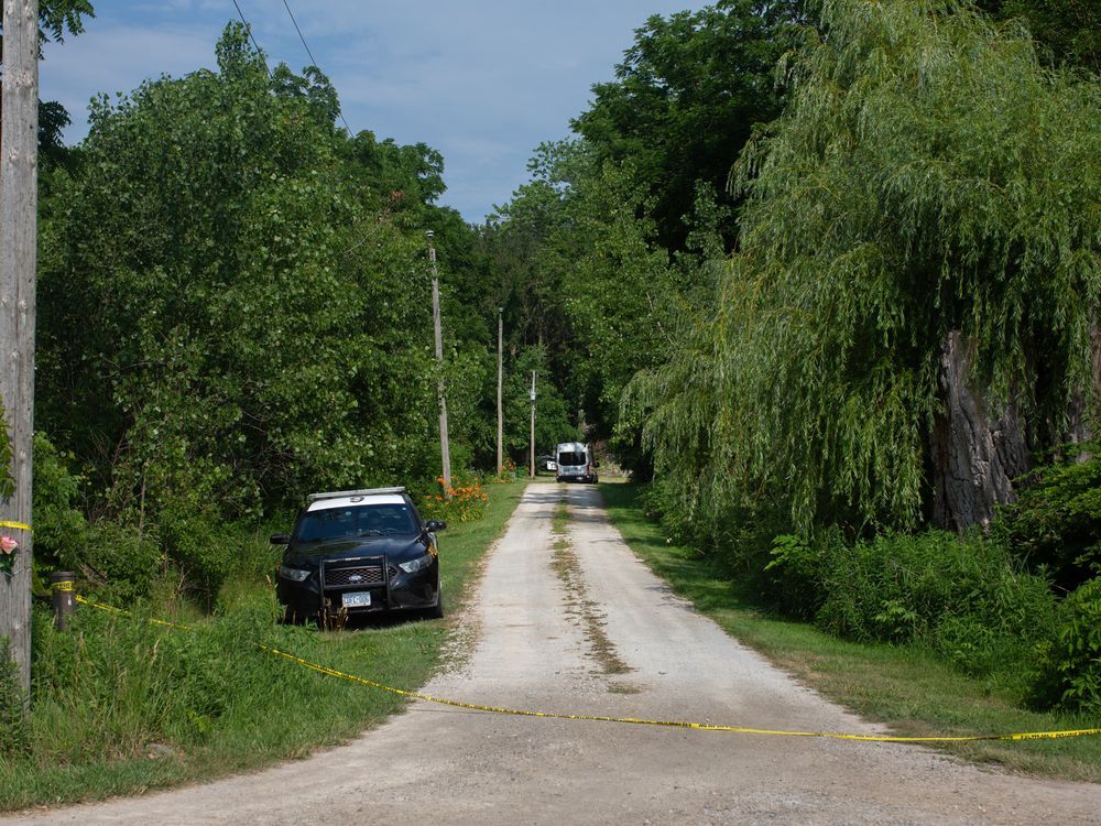
[[[270,63],[309,63],[283,0],[238,0]],[[609,80],[633,32],[652,13],[701,8],[689,0],[468,0],[416,3],[288,0],[310,51],[340,94],[356,131],[444,154],[442,202],[475,222],[527,178],[542,141]],[[73,116],[68,142],[87,131],[97,93],[130,91],[161,74],[212,67],[232,0],[92,0],[96,18],[41,68],[42,98]]]

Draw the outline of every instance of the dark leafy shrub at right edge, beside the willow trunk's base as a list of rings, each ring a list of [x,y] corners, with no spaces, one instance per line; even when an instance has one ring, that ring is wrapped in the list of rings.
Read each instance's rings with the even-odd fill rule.
[[[1065,445],[1065,457],[1037,468],[1003,511],[1014,552],[1073,589],[1101,573],[1101,458],[1098,443]]]

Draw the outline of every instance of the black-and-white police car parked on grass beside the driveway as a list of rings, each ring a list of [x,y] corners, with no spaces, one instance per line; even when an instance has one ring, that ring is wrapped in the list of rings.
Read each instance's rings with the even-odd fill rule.
[[[416,610],[444,616],[436,532],[404,488],[313,493],[286,545],[275,594],[287,622],[325,628],[357,615]]]

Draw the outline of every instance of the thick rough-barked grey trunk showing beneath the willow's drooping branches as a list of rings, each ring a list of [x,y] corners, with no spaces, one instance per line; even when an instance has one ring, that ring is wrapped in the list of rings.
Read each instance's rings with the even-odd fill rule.
[[[1013,479],[1029,467],[1016,404],[1010,400],[996,417],[970,377],[972,351],[953,330],[940,349],[942,410],[933,428],[933,520],[962,531],[988,525],[994,507],[1014,500]]]

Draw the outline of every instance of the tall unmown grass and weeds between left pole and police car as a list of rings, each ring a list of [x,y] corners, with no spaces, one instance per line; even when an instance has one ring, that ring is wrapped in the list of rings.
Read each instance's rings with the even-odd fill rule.
[[[87,609],[57,632],[36,615],[35,757],[118,760],[153,742],[197,746],[235,708],[281,707],[279,696],[301,680],[273,684],[271,656],[253,645],[271,623],[271,611],[239,610],[182,633]]]

